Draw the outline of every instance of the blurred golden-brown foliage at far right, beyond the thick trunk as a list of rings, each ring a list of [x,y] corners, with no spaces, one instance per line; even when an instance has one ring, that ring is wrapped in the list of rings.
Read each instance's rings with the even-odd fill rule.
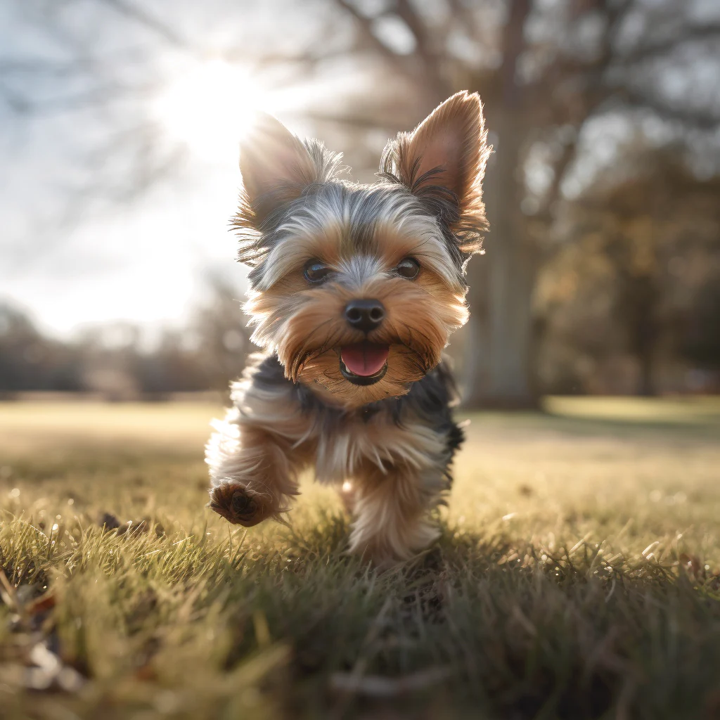
[[[718,366],[718,197],[720,179],[698,178],[677,148],[634,143],[564,205],[565,241],[536,289],[545,391],[653,395],[673,362]],[[598,366],[623,356],[636,380],[603,387]]]

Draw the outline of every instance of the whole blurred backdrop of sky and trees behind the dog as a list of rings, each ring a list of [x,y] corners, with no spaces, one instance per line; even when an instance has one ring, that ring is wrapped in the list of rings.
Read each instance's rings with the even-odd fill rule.
[[[468,408],[720,391],[717,0],[4,0],[0,394],[224,392],[256,109],[379,154],[460,89],[495,148]]]

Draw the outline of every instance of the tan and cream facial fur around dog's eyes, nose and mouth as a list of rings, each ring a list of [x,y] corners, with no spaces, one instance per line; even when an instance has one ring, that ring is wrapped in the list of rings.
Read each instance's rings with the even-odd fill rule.
[[[438,363],[450,334],[467,322],[464,289],[449,271],[451,261],[438,240],[418,242],[384,228],[377,234],[376,256],[365,258],[345,253],[343,259],[343,233],[337,228],[312,238],[304,253],[305,243],[295,238],[282,260],[286,274],[264,292],[251,293],[246,305],[256,325],[253,341],[278,354],[288,379],[320,384],[347,408],[405,395],[411,382]],[[390,273],[406,256],[422,265],[414,282]],[[336,281],[308,288],[302,264],[294,259],[307,257],[335,267]],[[385,323],[367,339],[391,346],[388,372],[369,387],[349,384],[339,369],[338,348],[365,337],[343,318],[343,307],[354,297],[374,297],[387,311]]]

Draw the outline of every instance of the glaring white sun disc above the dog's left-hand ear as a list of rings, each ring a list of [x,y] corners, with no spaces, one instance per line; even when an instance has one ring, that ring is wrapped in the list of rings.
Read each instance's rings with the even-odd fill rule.
[[[168,86],[156,103],[168,131],[213,161],[235,158],[238,140],[260,109],[273,111],[269,95],[247,71],[224,60],[199,64]]]

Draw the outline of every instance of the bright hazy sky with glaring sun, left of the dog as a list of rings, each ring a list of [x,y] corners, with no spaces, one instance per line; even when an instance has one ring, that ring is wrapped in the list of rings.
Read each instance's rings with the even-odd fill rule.
[[[166,47],[136,24],[94,15],[102,4],[78,5],[74,16],[52,17],[49,30],[46,14],[33,14],[19,0],[0,8],[4,57],[40,58],[55,68],[14,76],[18,91],[52,107],[68,91],[92,90],[93,76],[79,73],[70,83],[57,69],[75,61],[79,37],[91,52],[102,45],[109,58],[94,68],[94,76],[114,73],[113,79],[137,83],[143,94],[127,107],[109,103],[101,112],[22,114],[0,105],[0,300],[63,338],[113,320],[181,325],[202,302],[208,274],[232,280],[238,297],[243,292],[246,269],[234,260],[229,222],[240,186],[238,140],[252,112],[274,112],[291,130],[303,132],[307,128],[294,114],[318,89],[301,80],[273,92],[242,62],[218,60],[212,49],[198,58]],[[187,25],[193,15],[192,4],[186,6],[179,15]],[[245,22],[243,32],[252,35],[253,22],[266,21],[262,15],[249,14],[252,22]],[[224,33],[220,22],[210,27],[210,45],[222,48]],[[68,34],[69,52],[63,45]],[[153,77],[147,90],[143,68]],[[151,128],[148,158],[161,163],[164,156],[178,157],[146,192],[127,199],[122,192],[128,183],[132,188],[128,178],[143,147],[137,137],[126,142],[120,130],[140,120]],[[107,152],[98,150],[104,147]]]

